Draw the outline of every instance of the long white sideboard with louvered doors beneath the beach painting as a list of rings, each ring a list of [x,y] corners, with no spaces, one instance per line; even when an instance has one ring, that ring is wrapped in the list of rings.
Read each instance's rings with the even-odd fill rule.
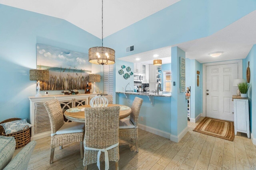
[[[97,94],[74,94],[74,95],[49,95],[49,96],[30,96],[30,123],[31,140],[41,139],[51,135],[50,119],[44,107],[44,102],[54,98],[60,101],[62,111],[66,111],[71,107],[89,104],[90,99]],[[66,118],[64,117],[64,120]],[[67,120],[65,120],[67,121]]]

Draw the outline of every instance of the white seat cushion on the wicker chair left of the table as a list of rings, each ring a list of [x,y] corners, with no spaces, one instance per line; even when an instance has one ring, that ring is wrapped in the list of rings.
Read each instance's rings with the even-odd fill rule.
[[[66,133],[79,133],[84,131],[84,123],[78,122],[66,122],[62,127],[56,131],[56,135],[66,134]]]

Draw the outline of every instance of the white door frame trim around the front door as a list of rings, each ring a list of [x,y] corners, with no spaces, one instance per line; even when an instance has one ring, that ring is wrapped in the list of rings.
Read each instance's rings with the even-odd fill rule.
[[[222,64],[238,64],[238,78],[243,78],[243,60],[230,60],[230,61],[220,61],[214,63],[204,63],[203,64],[203,113],[202,117],[206,117],[206,66],[222,65]]]

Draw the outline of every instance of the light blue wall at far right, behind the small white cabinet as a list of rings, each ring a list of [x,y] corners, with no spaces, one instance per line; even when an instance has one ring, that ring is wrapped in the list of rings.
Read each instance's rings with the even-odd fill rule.
[[[248,61],[250,61],[250,87],[247,92],[249,98],[249,114],[250,114],[250,132],[253,137],[256,138],[256,115],[255,115],[255,101],[256,101],[256,68],[254,67],[254,60],[256,58],[256,45],[254,45],[247,55],[246,59],[243,59],[243,78],[246,80],[246,69],[248,67]]]

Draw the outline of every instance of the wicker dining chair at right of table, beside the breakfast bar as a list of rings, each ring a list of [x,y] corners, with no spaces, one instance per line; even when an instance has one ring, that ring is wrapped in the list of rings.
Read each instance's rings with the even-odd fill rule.
[[[130,118],[119,120],[119,137],[130,137],[131,140],[135,139],[136,152],[139,152],[138,118],[142,102],[143,99],[135,97],[134,101],[132,102],[132,113],[130,114]]]

